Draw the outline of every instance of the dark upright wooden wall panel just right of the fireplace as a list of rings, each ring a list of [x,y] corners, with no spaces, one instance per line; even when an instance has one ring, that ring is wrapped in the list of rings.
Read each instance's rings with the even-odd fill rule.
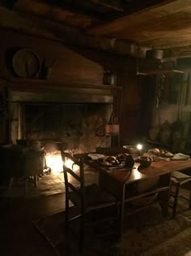
[[[137,143],[146,137],[151,122],[151,99],[155,87],[147,76],[121,73],[121,145]]]

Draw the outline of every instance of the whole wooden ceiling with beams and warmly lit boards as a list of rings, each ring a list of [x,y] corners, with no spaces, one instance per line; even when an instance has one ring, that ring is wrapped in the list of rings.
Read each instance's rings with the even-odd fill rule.
[[[191,46],[191,0],[3,0],[0,4],[95,36],[155,49]]]

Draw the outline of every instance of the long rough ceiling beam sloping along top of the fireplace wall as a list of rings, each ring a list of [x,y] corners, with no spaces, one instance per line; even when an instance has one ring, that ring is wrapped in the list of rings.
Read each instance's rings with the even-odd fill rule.
[[[27,33],[36,37],[49,38],[60,41],[66,46],[81,46],[96,51],[137,56],[137,45],[111,37],[95,37],[82,33],[79,29],[66,24],[58,24],[35,15],[23,15],[18,11],[11,11],[0,7],[0,29],[11,29],[18,33]],[[140,57],[145,55],[148,48],[139,47]]]

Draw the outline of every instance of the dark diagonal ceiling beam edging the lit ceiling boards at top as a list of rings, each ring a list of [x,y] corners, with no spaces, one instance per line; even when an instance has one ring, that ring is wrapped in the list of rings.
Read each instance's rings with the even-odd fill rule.
[[[122,30],[125,28],[125,25],[129,23],[129,16],[137,14],[142,11],[148,11],[154,7],[161,7],[169,2],[175,2],[176,0],[148,0],[142,1],[138,0],[135,2],[130,2],[126,5],[125,13],[122,17],[111,20],[108,23],[104,23],[95,27],[92,27],[88,30],[88,33],[97,34],[97,35],[106,35],[110,33],[115,33],[119,29]]]

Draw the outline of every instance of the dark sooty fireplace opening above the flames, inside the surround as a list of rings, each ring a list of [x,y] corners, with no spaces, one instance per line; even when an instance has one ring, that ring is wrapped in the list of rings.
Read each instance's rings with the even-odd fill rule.
[[[40,141],[46,153],[52,153],[53,142],[62,142],[63,150],[73,153],[92,152],[98,146],[109,146],[105,124],[112,104],[105,103],[27,103],[24,107],[24,133],[28,141]]]

